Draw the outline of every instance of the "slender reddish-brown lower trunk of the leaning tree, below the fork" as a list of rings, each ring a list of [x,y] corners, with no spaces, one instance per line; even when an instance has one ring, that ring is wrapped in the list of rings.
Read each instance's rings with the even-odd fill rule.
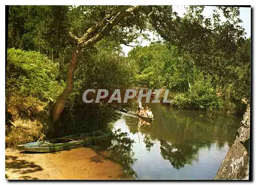
[[[77,48],[75,47],[72,52],[72,58],[69,64],[69,70],[68,70],[68,76],[67,76],[67,82],[66,87],[63,90],[62,94],[57,98],[53,111],[52,111],[52,122],[54,124],[54,130],[58,128],[58,120],[60,113],[62,112],[63,108],[65,107],[65,104],[69,98],[69,95],[72,92],[73,85],[74,85],[74,71],[76,68],[76,59],[77,59]]]

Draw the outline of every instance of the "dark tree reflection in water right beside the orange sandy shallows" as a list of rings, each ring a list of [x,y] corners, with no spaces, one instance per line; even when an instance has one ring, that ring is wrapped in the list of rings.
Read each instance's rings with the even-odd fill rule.
[[[137,160],[132,150],[134,140],[127,135],[128,133],[121,132],[121,129],[115,130],[107,150],[111,153],[111,158],[122,165],[128,176],[137,177],[137,173],[132,169],[132,165]]]

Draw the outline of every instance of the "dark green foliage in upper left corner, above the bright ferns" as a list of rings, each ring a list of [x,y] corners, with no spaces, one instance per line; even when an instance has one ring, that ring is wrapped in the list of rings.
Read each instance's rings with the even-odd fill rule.
[[[8,48],[59,57],[70,43],[68,10],[68,6],[10,6]]]

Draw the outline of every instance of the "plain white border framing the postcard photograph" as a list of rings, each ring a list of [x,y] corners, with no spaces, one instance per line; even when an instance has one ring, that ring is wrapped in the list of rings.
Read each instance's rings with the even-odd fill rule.
[[[184,1],[184,0],[180,0],[180,1],[161,1],[161,0],[158,0],[158,1],[153,1],[153,0],[144,0],[144,1],[138,1],[138,0],[131,0],[131,1],[115,1],[115,0],[109,0],[109,1],[102,1],[102,0],[94,0],[94,1],[67,1],[67,0],[64,0],[64,1],[53,1],[53,0],[45,0],[45,1],[4,1],[3,4],[4,5],[252,5],[252,7],[254,7],[254,3],[255,1],[238,1],[238,0],[226,0],[226,1],[223,1],[223,0],[216,0],[216,1],[202,1],[202,0],[197,0],[197,1]],[[1,6],[1,25],[5,25],[5,6]],[[255,15],[255,12],[254,12],[254,15]],[[253,15],[253,17],[254,17]],[[253,20],[253,23],[255,25],[255,20]],[[4,123],[5,123],[5,26],[2,27],[1,29],[1,35],[2,35],[2,42],[1,42],[1,45],[2,45],[2,49],[1,49],[1,52],[2,52],[2,61],[0,62],[0,68],[1,68],[1,77],[0,77],[0,85],[1,85],[1,121],[2,121],[2,127],[4,127]],[[253,41],[255,41],[255,39],[253,39]],[[252,41],[252,42],[253,42]],[[254,52],[254,48],[253,48],[253,53]],[[254,54],[255,55],[255,54]],[[253,56],[253,59],[254,59],[254,56]],[[253,61],[252,59],[252,61]],[[255,64],[253,65],[253,71],[255,72]],[[256,82],[255,82],[255,79],[253,79],[253,84],[252,84],[254,87],[256,87]],[[254,94],[256,94],[255,92],[255,89],[254,89]],[[253,97],[256,97],[254,96],[254,94],[252,95]],[[251,107],[254,105],[254,102],[252,102],[252,105]],[[253,106],[254,107],[254,106]],[[253,109],[253,112],[251,112],[251,114],[253,115],[256,115],[255,114],[255,110]],[[255,118],[253,118],[253,120],[255,120]],[[251,123],[253,124],[253,123]],[[253,124],[254,125],[254,124]],[[253,126],[253,133],[256,133],[255,131],[256,129],[256,126],[254,125]],[[1,129],[2,131],[2,139],[1,139],[1,156],[2,156],[2,160],[1,160],[1,180],[3,182],[3,179],[5,179],[5,162],[4,162],[4,155],[5,155],[5,131],[4,131],[4,128]],[[251,140],[251,142],[253,142]],[[253,145],[254,145],[254,142],[253,142]],[[254,147],[253,147],[254,148]],[[255,152],[254,152],[255,153]],[[255,158],[254,158],[255,159]],[[251,164],[252,165],[252,164]],[[253,176],[254,176],[255,172],[253,172]],[[27,182],[27,181],[26,181]],[[54,181],[54,183],[63,183],[63,181]],[[74,181],[68,181],[68,182],[65,182],[65,183],[73,183]],[[104,181],[106,182],[106,181]],[[113,183],[113,182],[116,182],[116,181],[108,181],[110,183]],[[156,182],[158,183],[158,181],[151,181],[151,182]],[[169,183],[172,183],[175,181],[169,181]],[[189,181],[191,182],[191,181]],[[217,182],[218,184],[222,184],[222,183],[225,183],[223,181],[210,181],[210,182]],[[230,181],[229,181],[230,182]],[[241,181],[240,181],[241,182]],[[7,180],[4,180],[3,182],[4,184],[8,183]],[[15,182],[12,182],[12,183],[15,183]],[[20,181],[19,181],[20,183]],[[33,183],[38,183],[36,181],[33,181]],[[52,181],[40,181],[40,183],[53,183]],[[82,182],[83,183],[83,182]],[[95,184],[95,183],[102,183],[102,182],[93,182],[93,181],[85,181],[85,183],[87,184]],[[125,181],[125,183],[139,183],[139,181]],[[166,183],[166,181],[165,181]],[[186,183],[185,181],[183,181],[182,183]],[[197,182],[196,182],[197,183]],[[203,182],[205,183],[205,181]],[[245,182],[241,182],[241,183],[246,183]],[[2,184],[2,183],[1,183]]]

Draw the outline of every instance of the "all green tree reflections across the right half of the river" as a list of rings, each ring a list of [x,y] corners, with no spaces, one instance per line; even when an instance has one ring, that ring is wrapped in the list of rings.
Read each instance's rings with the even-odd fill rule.
[[[151,151],[154,141],[160,141],[162,157],[176,169],[198,160],[202,148],[210,150],[215,145],[222,149],[225,144],[231,144],[240,123],[240,118],[226,114],[177,110],[160,104],[151,108],[154,111],[154,124],[139,129],[144,135],[145,147]],[[127,120],[135,122],[134,118]],[[132,133],[138,132],[136,124],[128,127]]]

